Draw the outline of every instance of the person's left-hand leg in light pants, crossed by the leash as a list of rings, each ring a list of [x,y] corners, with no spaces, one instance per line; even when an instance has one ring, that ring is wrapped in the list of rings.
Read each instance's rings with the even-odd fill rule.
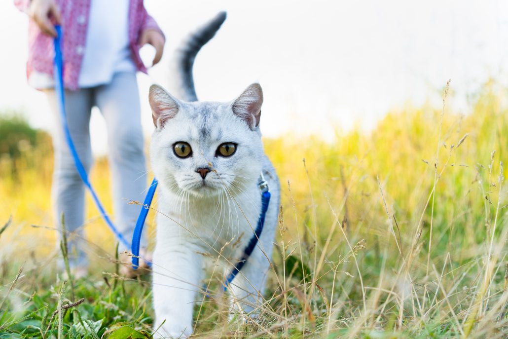
[[[52,199],[54,218],[61,229],[61,215],[63,214],[66,229],[72,232],[69,237],[69,254],[72,266],[87,265],[83,252],[83,223],[85,220],[85,187],[81,180],[74,158],[63,133],[60,108],[54,90],[45,91],[55,121],[53,133],[53,148],[55,167],[53,170]],[[67,124],[71,138],[76,146],[83,166],[88,171],[92,162],[90,148],[90,111],[92,94],[90,90],[66,90]]]

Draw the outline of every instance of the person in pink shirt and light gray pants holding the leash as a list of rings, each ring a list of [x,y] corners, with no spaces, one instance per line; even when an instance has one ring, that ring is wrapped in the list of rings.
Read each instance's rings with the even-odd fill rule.
[[[165,37],[148,15],[143,0],[14,2],[30,17],[28,83],[44,91],[54,115],[54,217],[61,229],[63,214],[67,230],[75,232],[74,240],[69,242],[70,262],[75,275],[84,275],[88,266],[82,227],[85,187],[65,141],[54,90],[55,24],[62,27],[63,83],[71,137],[88,171],[92,163],[89,120],[92,107],[97,106],[108,132],[115,225],[126,239],[132,238],[139,213],[139,206],[128,201],[142,201],[147,185],[136,80],[136,71],[146,73],[147,69],[139,49],[145,44],[152,45],[155,65],[161,60]],[[146,246],[145,238],[141,244]]]

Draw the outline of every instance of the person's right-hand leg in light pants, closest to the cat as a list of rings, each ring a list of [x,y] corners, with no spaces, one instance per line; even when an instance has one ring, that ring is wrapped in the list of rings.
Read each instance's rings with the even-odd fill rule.
[[[141,206],[129,204],[129,201],[142,202],[147,189],[136,75],[117,73],[109,84],[96,87],[95,95],[108,130],[115,222],[130,241]],[[146,247],[144,235],[141,246]]]

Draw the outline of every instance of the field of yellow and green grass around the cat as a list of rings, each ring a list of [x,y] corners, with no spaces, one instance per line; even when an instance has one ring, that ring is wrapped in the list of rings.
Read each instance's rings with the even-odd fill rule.
[[[471,114],[407,107],[333,142],[265,140],[282,186],[266,302],[259,318],[228,321],[224,298],[201,295],[195,336],[508,337],[507,94],[487,84]],[[91,201],[90,274],[63,283],[51,148],[40,144],[0,159],[0,227],[12,215],[0,233],[0,338],[149,337],[150,277],[116,274]],[[91,176],[109,207],[105,160]],[[222,279],[207,277],[212,291]]]

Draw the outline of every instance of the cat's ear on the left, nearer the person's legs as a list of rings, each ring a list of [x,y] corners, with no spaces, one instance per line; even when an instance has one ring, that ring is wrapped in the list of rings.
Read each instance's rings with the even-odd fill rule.
[[[174,118],[180,105],[178,100],[159,85],[151,85],[148,101],[152,108],[153,125],[160,130],[171,118]]]

